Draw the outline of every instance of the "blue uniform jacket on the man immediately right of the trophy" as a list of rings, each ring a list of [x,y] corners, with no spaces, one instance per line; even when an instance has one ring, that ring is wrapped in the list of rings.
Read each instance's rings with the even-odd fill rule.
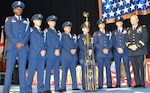
[[[103,34],[101,31],[96,31],[94,33],[94,48],[95,48],[96,58],[98,57],[112,58],[111,32],[106,32],[105,34]],[[109,50],[109,53],[107,55],[103,53],[104,48],[107,48]]]

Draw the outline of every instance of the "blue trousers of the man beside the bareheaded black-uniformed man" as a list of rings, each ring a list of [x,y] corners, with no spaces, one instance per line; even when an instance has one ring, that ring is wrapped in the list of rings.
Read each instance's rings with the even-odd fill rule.
[[[121,58],[123,59],[125,71],[126,71],[126,76],[127,76],[127,84],[131,85],[131,75],[130,75],[130,66],[129,66],[129,58],[126,55],[116,55],[114,56],[115,59],[115,66],[116,66],[116,76],[117,76],[117,86],[120,86],[120,63],[121,63]]]

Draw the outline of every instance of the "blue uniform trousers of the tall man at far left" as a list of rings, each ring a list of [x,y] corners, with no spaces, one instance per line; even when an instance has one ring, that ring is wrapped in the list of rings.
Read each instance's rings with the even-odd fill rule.
[[[18,56],[19,65],[19,82],[20,82],[20,93],[25,93],[26,88],[26,61],[27,61],[27,51],[25,49],[14,49],[7,51],[7,66],[6,75],[4,81],[3,93],[9,93],[12,73],[16,63],[16,56]]]

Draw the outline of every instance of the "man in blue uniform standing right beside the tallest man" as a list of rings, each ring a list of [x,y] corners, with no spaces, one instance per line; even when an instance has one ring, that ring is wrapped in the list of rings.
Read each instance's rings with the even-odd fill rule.
[[[30,54],[28,65],[28,77],[27,77],[27,93],[32,92],[32,81],[35,71],[37,71],[37,91],[41,93],[44,91],[44,65],[46,55],[46,44],[44,40],[44,34],[40,26],[43,16],[41,14],[35,14],[31,20],[34,23],[34,27],[31,29],[30,34]]]

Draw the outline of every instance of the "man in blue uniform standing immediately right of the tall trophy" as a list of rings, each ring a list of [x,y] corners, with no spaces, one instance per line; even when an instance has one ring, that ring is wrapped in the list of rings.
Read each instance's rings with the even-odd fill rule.
[[[112,58],[111,32],[105,31],[105,21],[98,20],[99,31],[94,33],[95,58],[98,66],[98,88],[103,88],[103,67],[106,67],[107,88],[112,88],[110,64]]]

